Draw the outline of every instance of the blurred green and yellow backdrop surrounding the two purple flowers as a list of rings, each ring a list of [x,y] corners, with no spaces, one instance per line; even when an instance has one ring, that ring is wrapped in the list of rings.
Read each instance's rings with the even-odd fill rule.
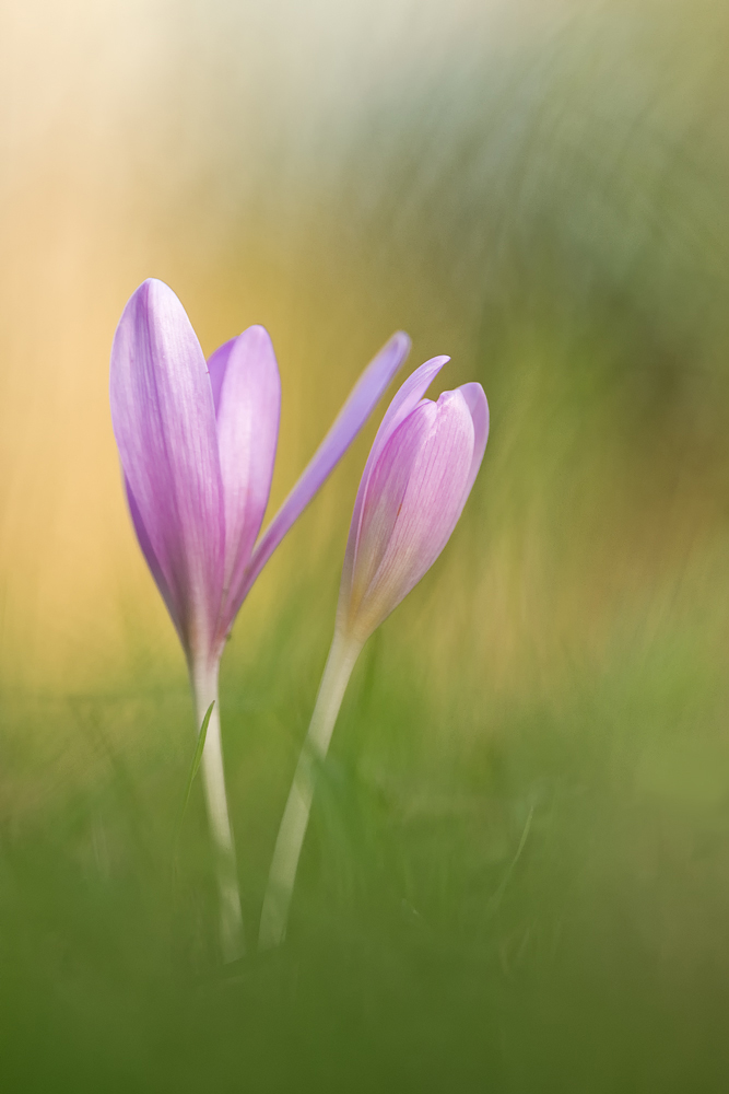
[[[718,0],[5,0],[3,1090],[727,1090],[728,46]],[[108,414],[148,276],[208,352],[269,328],[273,505],[396,328],[492,409],[232,970]],[[250,938],[375,424],[225,654]]]

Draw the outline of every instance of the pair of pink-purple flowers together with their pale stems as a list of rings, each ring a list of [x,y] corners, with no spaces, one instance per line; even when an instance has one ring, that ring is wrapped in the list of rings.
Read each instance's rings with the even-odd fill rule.
[[[221,943],[243,953],[233,833],[223,773],[217,672],[261,569],[363,427],[402,364],[398,333],[365,369],[319,449],[260,535],[279,437],[273,346],[248,327],[205,362],[174,292],[148,280],[114,338],[110,401],[129,511],[188,662],[202,776],[216,849]],[[375,438],[354,503],[334,639],[277,840],[260,944],[285,934],[314,793],[311,754],[326,755],[350,674],[372,632],[431,568],[458,522],[483,458],[489,407],[480,384],[425,392],[447,357],[404,382]]]

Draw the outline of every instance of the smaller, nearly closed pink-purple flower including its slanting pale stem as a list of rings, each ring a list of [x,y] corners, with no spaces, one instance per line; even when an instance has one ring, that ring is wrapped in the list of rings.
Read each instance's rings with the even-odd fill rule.
[[[448,361],[433,358],[402,385],[362,476],[344,556],[334,638],[286,802],[263,903],[259,945],[285,935],[314,794],[360,651],[433,566],[456,527],[483,459],[489,405],[480,384],[423,398]]]

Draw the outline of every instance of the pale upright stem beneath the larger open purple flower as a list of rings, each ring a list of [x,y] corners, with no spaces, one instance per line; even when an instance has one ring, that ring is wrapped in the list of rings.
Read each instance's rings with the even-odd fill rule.
[[[205,746],[202,750],[202,784],[204,788],[208,823],[215,852],[215,874],[220,898],[220,940],[224,962],[237,961],[245,952],[243,915],[238,893],[238,870],[235,858],[233,829],[227,813],[223,747],[220,732],[220,702],[217,699],[217,665],[192,671],[192,689],[198,713],[198,731],[210,703],[215,706],[208,723]]]

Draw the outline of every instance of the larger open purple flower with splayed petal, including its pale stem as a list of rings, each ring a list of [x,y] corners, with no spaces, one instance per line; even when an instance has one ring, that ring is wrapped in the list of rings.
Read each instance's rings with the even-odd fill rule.
[[[136,290],[117,327],[110,403],[129,510],[185,650],[198,725],[214,702],[202,773],[225,959],[243,952],[217,712],[225,640],[261,569],[367,420],[409,348],[408,336],[396,334],[372,361],[256,545],[281,404],[267,331],[249,327],[205,363],[179,300],[154,279]]]

